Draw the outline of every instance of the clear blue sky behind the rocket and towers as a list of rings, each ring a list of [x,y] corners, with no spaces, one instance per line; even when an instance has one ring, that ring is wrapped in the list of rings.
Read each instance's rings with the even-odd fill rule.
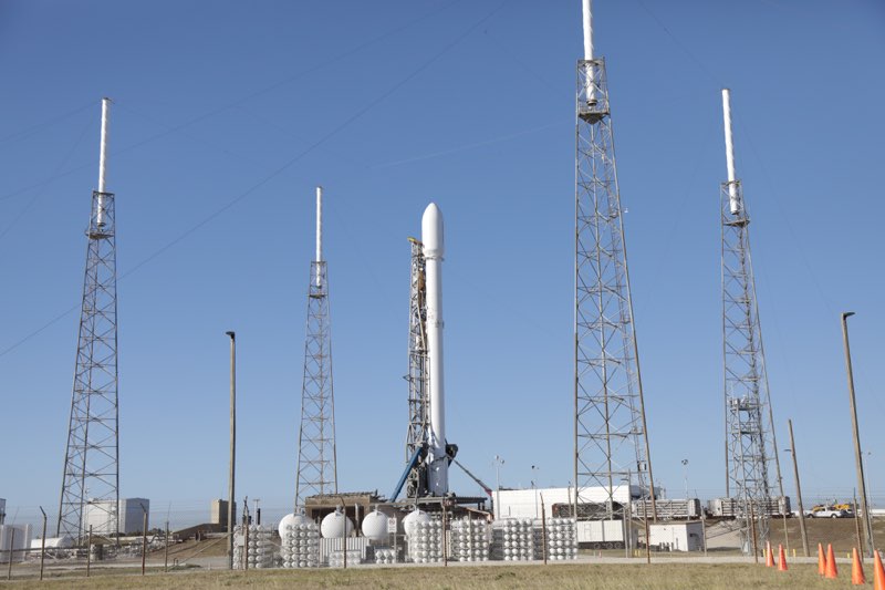
[[[882,97],[874,0],[596,0],[657,480],[723,493],[722,86],[752,215],[788,494],[856,485],[839,313],[885,505]],[[325,187],[340,487],[404,462],[408,255],[446,218],[448,436],[493,485],[572,478],[575,61],[581,2],[32,1],[0,4],[0,497],[58,509],[100,100],[114,100],[121,494],[208,517],[285,508],[313,187]],[[461,494],[478,487],[454,477]]]

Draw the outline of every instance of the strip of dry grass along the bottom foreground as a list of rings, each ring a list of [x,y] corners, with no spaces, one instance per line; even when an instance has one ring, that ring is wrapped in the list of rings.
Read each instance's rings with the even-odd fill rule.
[[[872,572],[867,566],[867,577]],[[399,567],[347,570],[256,570],[249,572],[188,571],[178,573],[108,575],[92,578],[63,578],[0,582],[14,589],[220,589],[220,588],[372,588],[372,589],[461,589],[556,588],[558,590],[600,588],[635,589],[728,589],[738,588],[847,588],[850,568],[842,566],[839,580],[818,576],[815,565],[791,566],[777,571],[752,563],[653,563],[637,565],[529,565],[448,568]]]

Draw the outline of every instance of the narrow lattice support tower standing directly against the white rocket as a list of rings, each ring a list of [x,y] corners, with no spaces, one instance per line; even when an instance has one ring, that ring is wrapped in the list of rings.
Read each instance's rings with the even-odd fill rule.
[[[429,400],[427,387],[427,300],[425,283],[424,246],[415,238],[412,245],[408,307],[408,432],[406,433],[406,462],[426,443],[429,427]],[[406,497],[426,495],[427,483],[421,470],[412,469],[406,480]]]

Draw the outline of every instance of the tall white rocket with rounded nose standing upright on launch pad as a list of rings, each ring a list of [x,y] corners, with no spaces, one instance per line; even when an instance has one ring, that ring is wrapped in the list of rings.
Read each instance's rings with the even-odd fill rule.
[[[446,389],[442,368],[442,214],[435,203],[421,216],[427,289],[427,359],[430,392],[430,433],[427,484],[431,496],[449,490],[449,459],[446,456]]]

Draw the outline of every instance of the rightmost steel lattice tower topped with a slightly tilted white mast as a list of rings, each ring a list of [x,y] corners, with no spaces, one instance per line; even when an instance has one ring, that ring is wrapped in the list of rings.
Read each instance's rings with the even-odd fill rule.
[[[742,547],[750,552],[769,538],[772,507],[769,462],[777,458],[773,414],[762,348],[762,330],[750,258],[750,217],[741,183],[735,174],[731,99],[722,90],[728,182],[721,184],[722,228],[722,358],[726,404],[726,494],[738,500]],[[754,520],[754,524],[752,522]],[[753,548],[754,549],[754,548]]]

